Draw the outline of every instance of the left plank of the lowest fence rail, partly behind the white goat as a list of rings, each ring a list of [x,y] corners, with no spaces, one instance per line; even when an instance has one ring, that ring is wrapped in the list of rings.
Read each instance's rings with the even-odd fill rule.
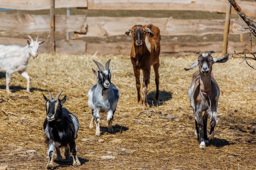
[[[40,40],[40,39],[39,39]],[[21,38],[7,38],[0,37],[0,44],[4,45],[27,45],[26,39]],[[86,42],[82,40],[57,40],[55,45],[56,53],[67,53],[67,54],[85,54],[86,52]],[[46,40],[40,45],[39,53],[49,53],[50,52],[50,42]]]

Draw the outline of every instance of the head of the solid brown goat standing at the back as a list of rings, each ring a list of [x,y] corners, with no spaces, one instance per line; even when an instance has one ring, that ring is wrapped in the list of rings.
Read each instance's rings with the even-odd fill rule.
[[[132,28],[127,29],[126,35],[129,35],[129,33],[132,33],[133,42],[138,47],[142,46],[145,42],[146,33],[148,33],[149,37],[153,37],[151,30],[142,25],[135,25]]]

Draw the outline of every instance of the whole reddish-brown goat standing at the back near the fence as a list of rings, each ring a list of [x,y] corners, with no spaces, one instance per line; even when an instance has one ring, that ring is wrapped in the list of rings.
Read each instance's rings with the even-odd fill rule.
[[[153,65],[155,71],[155,84],[157,87],[155,99],[159,99],[159,54],[160,54],[160,30],[153,24],[135,25],[126,31],[126,35],[132,33],[131,61],[136,79],[138,92],[138,102],[142,103],[140,93],[140,70],[143,71],[143,106],[148,109],[147,94],[150,80],[150,66]]]

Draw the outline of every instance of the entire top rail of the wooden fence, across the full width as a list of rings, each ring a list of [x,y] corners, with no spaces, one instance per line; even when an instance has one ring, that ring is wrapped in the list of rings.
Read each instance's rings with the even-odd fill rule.
[[[227,0],[55,0],[55,8],[82,7],[106,10],[179,10],[225,13]],[[239,1],[248,16],[256,17],[255,2]],[[49,9],[49,0],[1,0],[1,8]],[[231,13],[236,13],[231,10]],[[149,16],[152,17],[152,16]]]

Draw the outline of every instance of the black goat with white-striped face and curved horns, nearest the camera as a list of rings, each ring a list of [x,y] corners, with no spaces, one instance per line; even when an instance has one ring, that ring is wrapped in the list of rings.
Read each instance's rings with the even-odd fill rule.
[[[49,161],[46,168],[53,167],[54,147],[57,151],[56,161],[62,161],[61,147],[65,147],[65,158],[69,159],[70,153],[73,157],[73,166],[80,166],[81,163],[76,155],[76,142],[77,131],[79,122],[76,116],[70,113],[66,108],[63,108],[67,96],[59,99],[62,91],[59,92],[55,99],[52,99],[51,92],[48,91],[49,99],[43,94],[45,100],[47,118],[43,124],[45,131],[45,143],[48,146],[47,155]]]

